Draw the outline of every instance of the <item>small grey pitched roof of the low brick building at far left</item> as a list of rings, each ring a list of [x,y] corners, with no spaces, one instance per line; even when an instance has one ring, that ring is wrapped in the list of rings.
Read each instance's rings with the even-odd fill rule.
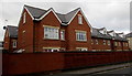
[[[8,25],[7,29],[10,37],[18,37],[18,26]]]

